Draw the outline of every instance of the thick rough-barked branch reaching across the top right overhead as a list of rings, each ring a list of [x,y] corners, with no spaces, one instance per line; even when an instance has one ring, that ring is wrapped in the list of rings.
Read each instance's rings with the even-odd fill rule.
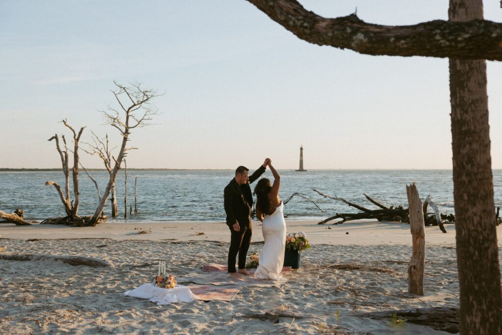
[[[502,23],[435,20],[413,26],[365,23],[355,14],[327,19],[295,0],[247,0],[298,38],[367,55],[502,61]]]

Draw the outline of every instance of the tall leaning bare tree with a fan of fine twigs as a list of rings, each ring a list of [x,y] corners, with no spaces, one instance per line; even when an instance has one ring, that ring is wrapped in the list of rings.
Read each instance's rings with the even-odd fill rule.
[[[131,131],[149,125],[152,117],[159,114],[157,108],[151,101],[154,97],[159,96],[155,91],[143,89],[140,84],[134,84],[132,87],[127,87],[118,84],[116,81],[113,83],[117,89],[112,91],[112,93],[120,108],[117,108],[117,110],[108,106],[108,109],[103,110],[102,114],[106,123],[118,130],[122,136],[122,143],[117,158],[114,159],[114,165],[111,169],[111,175],[106,189],[92,219],[88,222],[88,226],[95,226],[98,223],[99,218],[103,214],[104,205],[108,200],[110,191],[115,187],[115,179],[120,169],[121,162],[126,158],[128,151],[137,149],[134,147],[127,147],[130,141],[129,136]]]

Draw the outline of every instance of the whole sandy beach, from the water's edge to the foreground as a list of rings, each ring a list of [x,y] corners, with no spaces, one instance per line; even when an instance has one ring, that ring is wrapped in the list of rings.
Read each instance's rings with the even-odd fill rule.
[[[134,266],[166,260],[168,272],[182,278],[204,264],[226,264],[230,236],[223,222],[105,223],[95,228],[0,225],[0,247],[7,247],[0,256],[74,255],[111,264],[91,268],[1,260],[0,333],[448,333],[395,323],[391,317],[358,315],[458,308],[453,225],[446,225],[447,234],[438,227],[426,228],[424,296],[407,294],[412,243],[408,225],[287,221],[287,226],[289,232],[306,232],[312,249],[302,252],[301,268],[280,288],[244,287],[229,302],[158,306],[123,296],[157,274],[156,265]],[[150,233],[138,234],[141,231]],[[497,235],[500,248],[502,226]],[[261,241],[261,225],[254,222],[248,255],[260,251]]]

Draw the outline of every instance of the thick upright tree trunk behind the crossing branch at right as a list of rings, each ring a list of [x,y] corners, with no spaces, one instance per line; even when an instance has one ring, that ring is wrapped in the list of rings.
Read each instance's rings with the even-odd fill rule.
[[[483,18],[481,0],[450,0],[450,21]],[[502,333],[502,291],[493,218],[486,61],[450,58],[453,196],[460,331]]]

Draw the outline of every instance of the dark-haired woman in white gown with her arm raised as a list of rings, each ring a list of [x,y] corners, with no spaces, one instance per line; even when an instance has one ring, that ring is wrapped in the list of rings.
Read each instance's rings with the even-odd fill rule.
[[[271,185],[270,180],[263,178],[255,187],[256,214],[263,222],[265,240],[255,276],[260,279],[279,280],[282,278],[286,249],[286,222],[283,214],[284,204],[279,198],[281,177],[272,166],[272,162],[269,162],[268,166],[274,175],[274,183]]]

